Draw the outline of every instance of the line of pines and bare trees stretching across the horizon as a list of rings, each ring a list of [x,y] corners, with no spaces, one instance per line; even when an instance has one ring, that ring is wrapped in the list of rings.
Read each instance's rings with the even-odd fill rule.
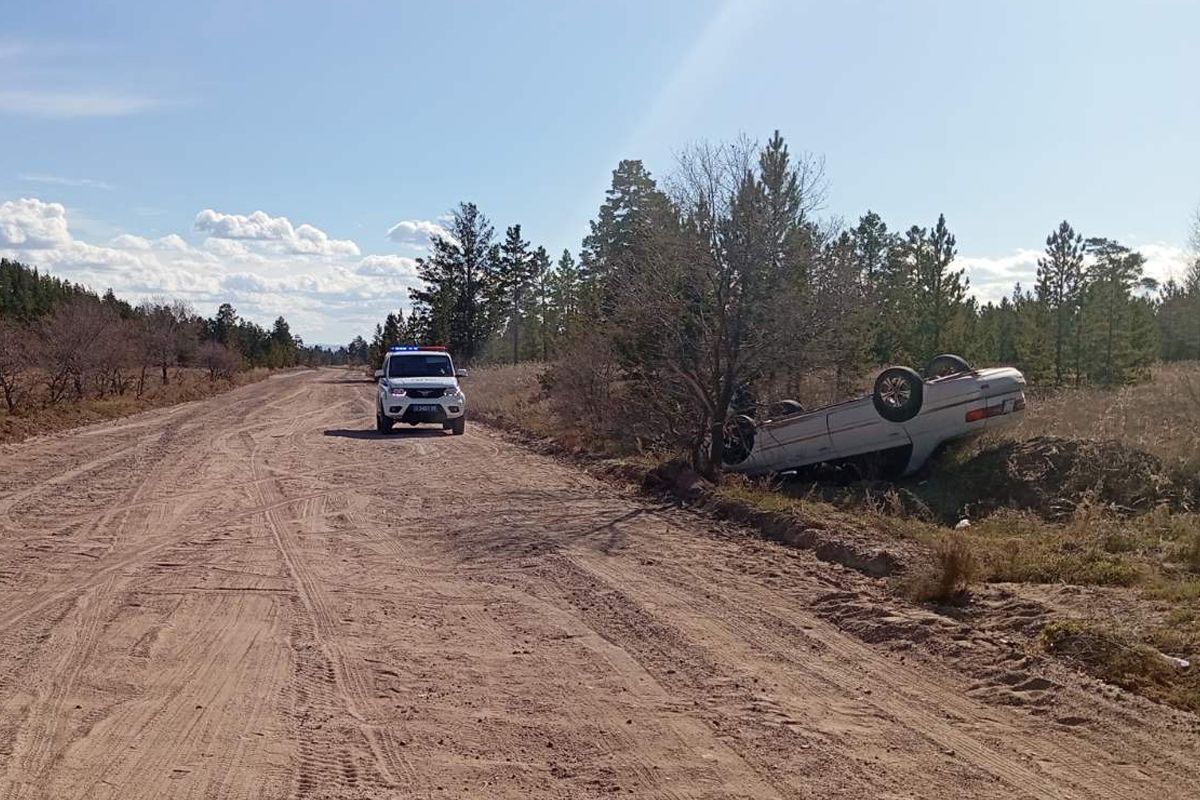
[[[766,144],[692,145],[661,181],[623,160],[577,255],[565,248],[557,259],[520,224],[498,236],[464,201],[416,261],[409,313],[397,303],[370,342],[356,336],[336,349],[305,345],[283,317],[266,330],[230,303],[212,318],[167,300],[132,306],[4,261],[0,383],[58,372],[65,330],[94,354],[96,343],[120,344],[106,344],[108,378],[71,377],[55,397],[82,396],[89,384],[125,391],[132,367],[140,391],[148,365],[160,379],[168,365],[215,377],[378,363],[392,344],[442,344],[464,363],[547,362],[547,385],[582,360],[643,390],[654,435],[695,450],[739,386],[769,396],[814,371],[844,395],[878,367],[919,367],[949,351],[1018,366],[1032,383],[1115,386],[1144,379],[1159,360],[1200,359],[1200,259],[1182,281],[1158,284],[1135,249],[1062,221],[1033,283],[980,303],[955,265],[944,215],[900,231],[869,210],[845,225],[817,216],[827,187],[821,160],[793,156],[779,132]],[[1200,219],[1192,243],[1200,251]],[[596,374],[570,379],[598,385]]]

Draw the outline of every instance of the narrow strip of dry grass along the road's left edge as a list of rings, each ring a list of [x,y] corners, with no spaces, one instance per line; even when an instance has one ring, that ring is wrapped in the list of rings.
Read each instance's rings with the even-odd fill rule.
[[[0,411],[0,444],[14,444],[43,433],[67,431],[150,409],[205,399],[257,383],[270,374],[270,369],[258,368],[235,373],[232,379],[209,380],[205,369],[176,369],[166,386],[160,385],[155,377],[142,397],[127,392],[103,399],[62,401],[56,405],[37,408],[16,416]]]

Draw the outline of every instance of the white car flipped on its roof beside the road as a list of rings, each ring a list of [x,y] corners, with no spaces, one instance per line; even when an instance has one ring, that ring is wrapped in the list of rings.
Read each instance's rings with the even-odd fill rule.
[[[972,369],[959,356],[940,355],[924,375],[884,369],[869,397],[812,411],[786,402],[768,419],[734,416],[725,427],[721,461],[748,475],[840,462],[908,474],[946,441],[1016,422],[1024,390],[1018,369]]]

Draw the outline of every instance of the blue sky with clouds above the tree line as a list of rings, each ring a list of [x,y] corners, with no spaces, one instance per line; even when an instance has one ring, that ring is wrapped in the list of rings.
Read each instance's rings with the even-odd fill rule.
[[[989,299],[1064,217],[1180,271],[1200,204],[1195,2],[6,6],[0,253],[308,341],[407,303],[458,200],[576,249],[619,158],[696,139],[780,128],[829,216],[944,211]]]

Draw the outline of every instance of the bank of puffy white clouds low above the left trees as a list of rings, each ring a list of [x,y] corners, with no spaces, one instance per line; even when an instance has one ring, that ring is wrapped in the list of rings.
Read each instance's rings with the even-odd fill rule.
[[[197,245],[179,234],[127,233],[91,243],[71,234],[68,216],[40,199],[0,204],[0,257],[100,291],[112,287],[131,301],[178,297],[203,314],[232,302],[263,325],[282,314],[306,341],[326,343],[370,333],[389,311],[408,306],[418,284],[413,258],[361,255],[353,241],[265,212],[206,210],[197,227],[209,235]]]

